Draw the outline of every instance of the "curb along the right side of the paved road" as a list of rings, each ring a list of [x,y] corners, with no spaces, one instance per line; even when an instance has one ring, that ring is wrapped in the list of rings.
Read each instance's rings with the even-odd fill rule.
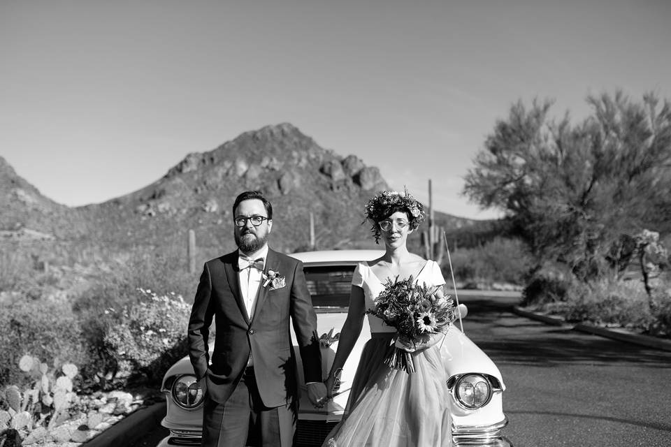
[[[671,352],[671,340],[651,337],[649,335],[636,334],[635,332],[631,332],[630,330],[622,328],[600,328],[598,326],[586,323],[578,323],[574,325],[567,323],[561,317],[529,312],[528,310],[521,309],[519,306],[513,306],[512,312],[519,316],[525,316],[526,318],[531,318],[532,320],[542,321],[543,323],[549,325],[562,326],[564,328],[571,328],[572,330],[577,330],[579,332],[586,332],[592,335],[599,335],[601,337],[619,340],[620,342],[628,342],[638,344],[640,346],[647,346],[649,348],[661,349],[662,351]]]

